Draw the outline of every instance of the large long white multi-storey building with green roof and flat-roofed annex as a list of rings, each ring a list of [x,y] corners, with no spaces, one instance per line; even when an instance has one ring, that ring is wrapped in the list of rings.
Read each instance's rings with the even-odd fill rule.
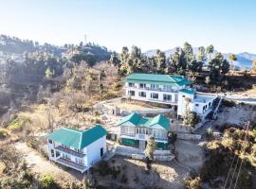
[[[182,76],[132,74],[126,77],[125,94],[135,100],[170,105],[178,117],[184,116],[187,107],[204,119],[217,96],[196,94],[190,85]]]

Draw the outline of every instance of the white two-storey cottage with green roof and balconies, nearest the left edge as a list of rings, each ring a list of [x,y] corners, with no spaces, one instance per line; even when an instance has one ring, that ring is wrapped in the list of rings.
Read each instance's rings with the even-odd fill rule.
[[[55,130],[46,136],[49,160],[83,173],[106,153],[106,134],[101,125],[86,130]]]

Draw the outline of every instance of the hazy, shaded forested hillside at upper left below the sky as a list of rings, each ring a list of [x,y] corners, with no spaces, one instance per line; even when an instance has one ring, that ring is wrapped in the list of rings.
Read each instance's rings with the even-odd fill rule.
[[[65,73],[81,62],[93,66],[109,60],[111,52],[98,44],[43,45],[5,35],[0,36],[0,114],[16,109],[27,100],[34,101],[40,90],[58,91],[65,85]],[[9,55],[21,54],[18,62]]]

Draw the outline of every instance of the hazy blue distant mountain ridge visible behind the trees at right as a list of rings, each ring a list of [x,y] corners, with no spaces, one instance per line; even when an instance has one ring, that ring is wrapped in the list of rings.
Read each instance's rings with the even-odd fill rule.
[[[197,54],[198,53],[198,47],[193,47],[192,48],[193,53]],[[170,55],[174,54],[175,48],[171,48],[168,50],[165,50],[165,55],[166,57],[169,57]],[[214,51],[216,53],[218,51]],[[148,50],[144,52],[145,55],[149,57],[153,57],[156,54],[156,49]],[[231,53],[223,53],[224,57],[229,60],[229,55]],[[235,61],[235,65],[241,68],[251,68],[252,67],[252,61],[256,60],[256,54],[248,53],[248,52],[243,52],[243,53],[238,53],[236,54],[237,61]]]

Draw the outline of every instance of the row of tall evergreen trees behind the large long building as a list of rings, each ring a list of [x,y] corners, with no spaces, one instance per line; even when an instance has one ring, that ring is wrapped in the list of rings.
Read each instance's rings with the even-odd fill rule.
[[[219,82],[223,80],[225,74],[229,72],[229,61],[221,53],[215,53],[212,44],[205,48],[200,46],[198,52],[194,53],[190,43],[184,43],[183,47],[176,47],[174,53],[166,57],[163,51],[156,50],[153,57],[148,57],[141,53],[136,45],[129,51],[124,46],[119,54],[111,55],[109,63],[119,66],[122,76],[133,73],[154,73],[154,74],[176,74],[191,75],[201,73],[204,64],[208,63],[210,78],[208,81]],[[234,59],[232,59],[234,60]]]

